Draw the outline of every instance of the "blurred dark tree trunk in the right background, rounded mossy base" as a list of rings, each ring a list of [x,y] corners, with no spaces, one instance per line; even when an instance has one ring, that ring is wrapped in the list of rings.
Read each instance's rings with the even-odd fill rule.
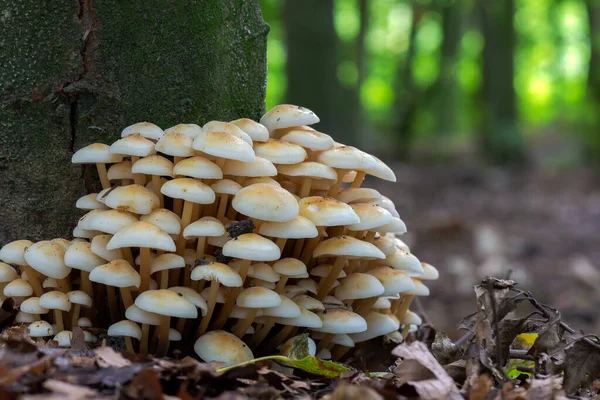
[[[483,48],[481,149],[494,164],[522,162],[514,90],[514,0],[479,0]]]

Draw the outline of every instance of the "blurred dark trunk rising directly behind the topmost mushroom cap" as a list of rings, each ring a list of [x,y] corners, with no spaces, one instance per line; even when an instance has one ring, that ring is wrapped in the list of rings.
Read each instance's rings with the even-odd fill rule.
[[[345,132],[340,131],[335,120],[340,89],[333,0],[286,0],[283,19],[287,43],[286,101],[306,105],[321,119],[317,129],[341,137]]]

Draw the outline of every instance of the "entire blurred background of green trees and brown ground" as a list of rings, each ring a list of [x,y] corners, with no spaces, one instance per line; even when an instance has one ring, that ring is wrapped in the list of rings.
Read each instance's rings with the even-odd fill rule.
[[[472,285],[517,280],[600,330],[599,0],[261,0],[267,108],[390,162],[406,242],[442,280],[451,336]],[[391,192],[391,193],[390,193]]]

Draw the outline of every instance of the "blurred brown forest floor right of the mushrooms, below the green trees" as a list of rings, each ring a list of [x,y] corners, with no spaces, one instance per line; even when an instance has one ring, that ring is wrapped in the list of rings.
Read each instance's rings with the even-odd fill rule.
[[[441,278],[422,309],[456,339],[475,311],[482,277],[510,277],[575,329],[600,332],[600,174],[479,165],[394,165],[394,186],[369,181],[396,204],[403,240]],[[395,187],[395,191],[390,188]]]

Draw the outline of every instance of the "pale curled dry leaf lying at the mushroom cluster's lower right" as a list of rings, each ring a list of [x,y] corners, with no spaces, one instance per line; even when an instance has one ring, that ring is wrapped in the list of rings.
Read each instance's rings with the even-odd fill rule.
[[[423,343],[401,344],[392,354],[404,360],[394,373],[401,383],[412,386],[421,399],[462,399],[452,378]],[[402,366],[407,361],[410,368]]]

